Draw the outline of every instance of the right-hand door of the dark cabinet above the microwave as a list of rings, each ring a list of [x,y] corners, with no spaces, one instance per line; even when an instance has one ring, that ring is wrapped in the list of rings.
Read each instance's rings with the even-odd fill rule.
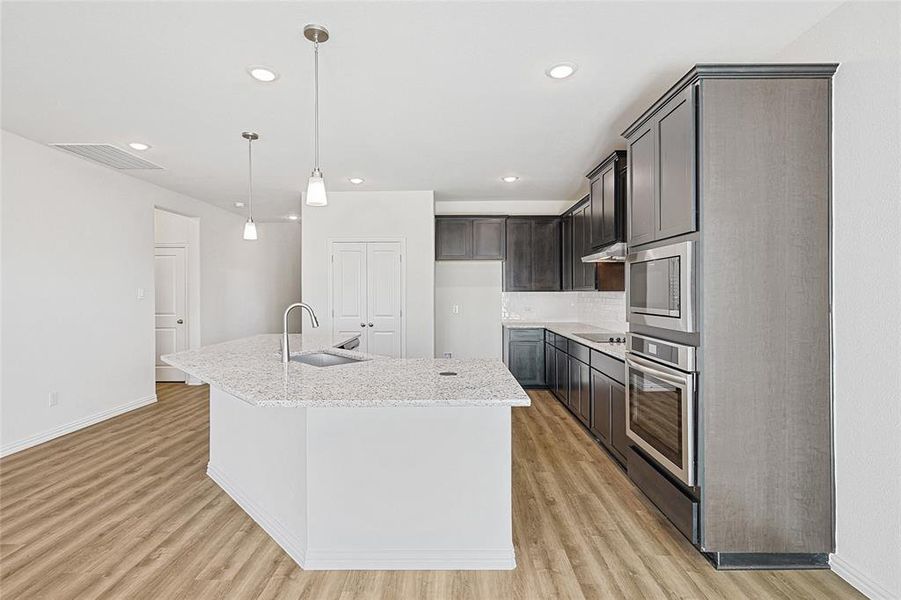
[[[658,240],[695,230],[693,89],[670,100],[656,120]]]

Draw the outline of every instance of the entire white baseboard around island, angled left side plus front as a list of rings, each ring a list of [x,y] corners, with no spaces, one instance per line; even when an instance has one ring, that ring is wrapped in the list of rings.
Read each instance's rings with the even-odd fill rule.
[[[490,570],[516,568],[513,548],[497,550],[449,549],[422,551],[405,549],[385,550],[311,550],[297,536],[290,533],[277,519],[251,500],[229,481],[220,470],[207,465],[207,475],[216,482],[238,506],[244,509],[263,531],[281,546],[302,569],[308,571],[345,570]]]

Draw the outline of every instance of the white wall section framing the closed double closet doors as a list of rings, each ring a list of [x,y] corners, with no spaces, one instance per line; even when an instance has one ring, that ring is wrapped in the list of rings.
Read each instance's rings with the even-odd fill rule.
[[[328,310],[329,240],[406,240],[408,357],[431,357],[435,328],[435,209],[431,191],[329,192],[325,207],[301,213],[303,300],[331,329]],[[306,321],[305,321],[306,323]]]

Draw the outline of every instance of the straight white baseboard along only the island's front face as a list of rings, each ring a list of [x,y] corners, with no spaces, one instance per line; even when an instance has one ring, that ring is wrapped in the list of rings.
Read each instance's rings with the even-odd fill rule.
[[[308,571],[509,571],[516,568],[516,558],[513,548],[423,551],[409,548],[351,551],[310,549],[303,568]]]

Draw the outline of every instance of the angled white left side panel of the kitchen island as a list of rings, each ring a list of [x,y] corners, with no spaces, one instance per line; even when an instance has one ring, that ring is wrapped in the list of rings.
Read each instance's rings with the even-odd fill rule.
[[[207,474],[303,566],[305,408],[259,407],[210,386]]]

